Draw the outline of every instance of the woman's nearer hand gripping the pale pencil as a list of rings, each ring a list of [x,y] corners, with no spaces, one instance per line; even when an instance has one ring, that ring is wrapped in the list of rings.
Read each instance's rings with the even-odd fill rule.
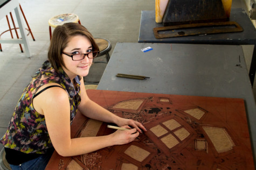
[[[130,129],[129,126],[122,126],[121,128]],[[113,145],[123,145],[130,143],[136,137],[139,136],[139,132],[134,128],[130,130],[117,130],[112,133],[112,143]]]

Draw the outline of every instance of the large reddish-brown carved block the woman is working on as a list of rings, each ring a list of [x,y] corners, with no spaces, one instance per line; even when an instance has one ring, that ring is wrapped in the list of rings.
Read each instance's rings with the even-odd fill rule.
[[[50,161],[46,170],[255,169],[243,99],[108,90],[86,92],[103,108],[141,122],[148,130],[128,144],[76,157],[61,157],[54,152],[51,159],[56,161]],[[108,124],[78,112],[71,134],[91,137],[115,132],[107,128]]]

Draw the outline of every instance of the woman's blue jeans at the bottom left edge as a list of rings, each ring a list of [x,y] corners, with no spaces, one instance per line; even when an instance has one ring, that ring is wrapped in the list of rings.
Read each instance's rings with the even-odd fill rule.
[[[51,156],[52,156],[51,154],[43,154],[36,159],[32,159],[20,165],[10,164],[10,167],[12,170],[30,170],[30,169],[44,170]]]

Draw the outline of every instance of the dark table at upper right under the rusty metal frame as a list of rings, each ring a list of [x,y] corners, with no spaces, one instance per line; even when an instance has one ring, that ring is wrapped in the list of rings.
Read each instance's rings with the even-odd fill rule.
[[[256,31],[250,18],[243,9],[231,9],[230,21],[237,22],[243,32],[219,33],[201,36],[156,39],[153,29],[162,27],[155,22],[155,11],[142,11],[139,42],[182,43],[182,44],[222,44],[222,45],[254,45],[249,77],[253,86],[256,72]]]

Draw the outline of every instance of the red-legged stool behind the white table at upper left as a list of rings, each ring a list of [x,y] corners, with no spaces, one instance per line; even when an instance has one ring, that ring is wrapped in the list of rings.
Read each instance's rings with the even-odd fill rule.
[[[19,8],[20,8],[20,11],[22,12],[22,15],[23,15],[23,17],[24,17],[24,19],[25,19],[25,22],[26,22],[26,25],[27,25],[27,29],[26,29],[26,30],[29,31],[29,33],[27,34],[27,36],[31,33],[31,36],[32,36],[32,38],[33,38],[33,41],[36,41],[36,40],[34,39],[34,36],[33,36],[32,31],[31,31],[31,29],[30,29],[29,23],[27,23],[25,14],[24,14],[24,12],[23,12],[23,10],[22,10],[22,6],[20,6],[20,4],[19,4]],[[18,32],[17,32],[17,29],[19,29],[19,28],[16,28],[16,25],[15,25],[15,22],[14,22],[14,20],[13,20],[13,17],[12,17],[11,12],[10,12],[10,17],[11,17],[13,29],[11,29],[10,22],[9,22],[9,18],[8,18],[8,16],[6,15],[6,20],[7,20],[7,23],[8,23],[9,30],[4,31],[3,33],[10,31],[10,33],[11,33],[11,38],[13,39],[12,30],[15,30],[16,37],[19,39],[19,35],[18,35]],[[0,37],[2,36],[3,33],[0,34]],[[20,51],[22,51],[22,53],[23,53],[22,45],[19,44],[19,47],[20,47]],[[0,51],[3,51],[1,44],[0,44]]]

